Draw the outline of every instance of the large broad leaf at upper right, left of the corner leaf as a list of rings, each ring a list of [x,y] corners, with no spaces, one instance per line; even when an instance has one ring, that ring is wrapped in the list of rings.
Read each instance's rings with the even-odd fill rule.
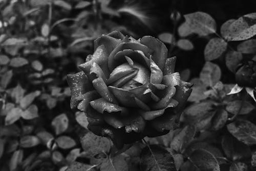
[[[196,33],[199,36],[207,36],[216,33],[216,22],[209,14],[195,12],[184,15],[185,22],[178,28],[180,36],[185,37]]]

